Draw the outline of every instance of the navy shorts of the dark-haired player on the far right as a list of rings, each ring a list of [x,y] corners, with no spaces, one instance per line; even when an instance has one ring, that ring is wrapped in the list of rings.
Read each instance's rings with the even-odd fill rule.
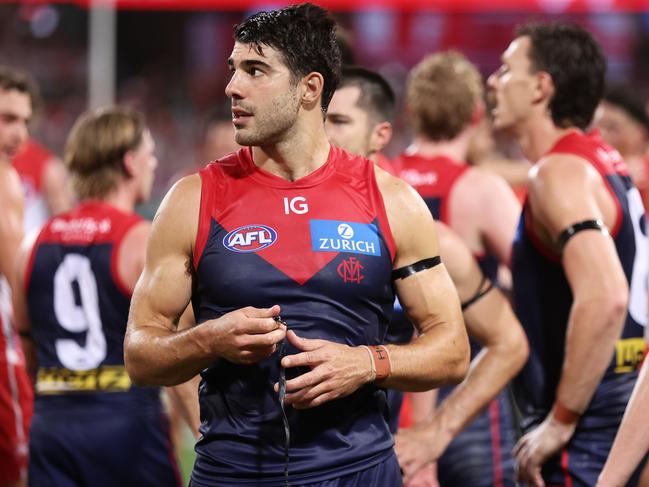
[[[604,468],[613,446],[617,428],[577,430],[566,448],[548,460],[542,468],[543,480],[548,486],[591,487]],[[627,487],[635,487],[646,458],[636,469]]]

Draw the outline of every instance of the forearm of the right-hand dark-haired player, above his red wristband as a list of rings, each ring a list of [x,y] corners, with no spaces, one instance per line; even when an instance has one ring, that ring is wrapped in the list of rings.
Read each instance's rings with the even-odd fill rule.
[[[626,316],[623,301],[575,300],[566,334],[566,353],[557,401],[582,413],[610,364]]]

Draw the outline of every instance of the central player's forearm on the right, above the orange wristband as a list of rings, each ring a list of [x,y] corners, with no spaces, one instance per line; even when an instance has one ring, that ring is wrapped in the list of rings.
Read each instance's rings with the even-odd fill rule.
[[[469,342],[463,322],[445,322],[405,345],[388,345],[390,376],[385,387],[425,391],[461,381],[469,367]]]

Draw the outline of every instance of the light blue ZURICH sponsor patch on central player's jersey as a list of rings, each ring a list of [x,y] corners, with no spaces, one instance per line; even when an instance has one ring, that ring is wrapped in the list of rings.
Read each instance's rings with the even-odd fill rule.
[[[379,231],[373,223],[311,220],[310,225],[314,252],[381,255]]]

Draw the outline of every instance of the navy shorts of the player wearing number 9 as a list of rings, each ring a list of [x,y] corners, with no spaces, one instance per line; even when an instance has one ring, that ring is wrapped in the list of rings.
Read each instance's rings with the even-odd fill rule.
[[[29,485],[179,487],[161,412],[35,414],[29,437]]]

